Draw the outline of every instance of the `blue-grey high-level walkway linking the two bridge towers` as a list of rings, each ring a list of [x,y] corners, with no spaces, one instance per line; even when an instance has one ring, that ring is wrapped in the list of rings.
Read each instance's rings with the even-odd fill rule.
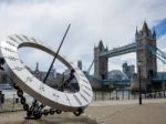
[[[136,43],[131,43],[124,46],[120,46],[120,48],[115,48],[113,50],[110,50],[107,52],[103,52],[100,54],[100,56],[107,56],[107,58],[112,58],[112,56],[117,56],[117,55],[122,55],[122,54],[126,54],[126,53],[131,53],[131,52],[135,52],[136,51]]]

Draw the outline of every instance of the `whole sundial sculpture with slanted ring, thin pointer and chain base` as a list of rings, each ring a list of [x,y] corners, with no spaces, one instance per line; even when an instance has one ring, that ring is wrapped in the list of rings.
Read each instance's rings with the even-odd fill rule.
[[[76,92],[61,91],[46,85],[45,79],[43,82],[38,80],[19,59],[18,49],[24,46],[42,50],[53,55],[54,60],[55,58],[60,60],[69,70],[72,70],[71,75],[76,79],[80,89]],[[23,105],[23,110],[27,111],[27,118],[40,118],[42,115],[60,114],[62,111],[73,112],[79,116],[92,101],[93,93],[89,80],[73,62],[60,54],[59,50],[54,52],[52,48],[43,44],[41,41],[20,34],[8,35],[0,42],[0,53],[4,59],[2,63],[3,69],[11,79],[13,86],[18,90],[17,94]],[[72,79],[70,78],[69,80]],[[27,92],[34,99],[31,106],[27,103],[23,92]],[[50,107],[48,110],[44,106]]]

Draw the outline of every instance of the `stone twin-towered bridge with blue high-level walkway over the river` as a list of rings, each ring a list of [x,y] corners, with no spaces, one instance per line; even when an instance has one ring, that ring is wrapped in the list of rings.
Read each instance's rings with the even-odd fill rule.
[[[138,62],[142,64],[139,69],[142,71],[141,79],[144,82],[142,87],[149,89],[152,87],[154,81],[157,79],[157,62],[158,58],[166,63],[166,53],[162,52],[156,46],[156,32],[155,30],[149,30],[146,22],[144,22],[143,28],[135,32],[135,42],[114,48],[108,50],[108,48],[103,45],[103,42],[100,41],[98,45],[94,48],[94,76],[101,82],[108,82],[107,72],[108,72],[108,58],[136,52],[136,65]],[[138,69],[138,65],[137,65]],[[155,79],[155,80],[153,80]],[[158,80],[157,80],[158,81]],[[162,81],[162,80],[159,80]],[[166,81],[166,80],[165,80]],[[138,83],[138,80],[135,81]],[[138,86],[138,84],[136,84]]]

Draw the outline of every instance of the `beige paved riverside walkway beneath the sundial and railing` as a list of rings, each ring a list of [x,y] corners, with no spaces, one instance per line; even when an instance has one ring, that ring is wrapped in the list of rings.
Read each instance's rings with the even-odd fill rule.
[[[71,113],[24,120],[24,112],[0,113],[0,124],[165,124],[166,99],[94,101],[76,117]]]

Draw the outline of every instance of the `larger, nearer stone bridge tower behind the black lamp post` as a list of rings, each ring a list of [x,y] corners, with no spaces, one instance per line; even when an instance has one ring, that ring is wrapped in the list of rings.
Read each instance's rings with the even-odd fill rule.
[[[135,42],[137,63],[142,63],[142,79],[149,80],[152,78],[155,78],[157,73],[156,56],[152,55],[147,51],[147,45],[156,48],[156,33],[155,31],[149,30],[146,21],[144,22],[142,30],[137,31],[136,29]]]

